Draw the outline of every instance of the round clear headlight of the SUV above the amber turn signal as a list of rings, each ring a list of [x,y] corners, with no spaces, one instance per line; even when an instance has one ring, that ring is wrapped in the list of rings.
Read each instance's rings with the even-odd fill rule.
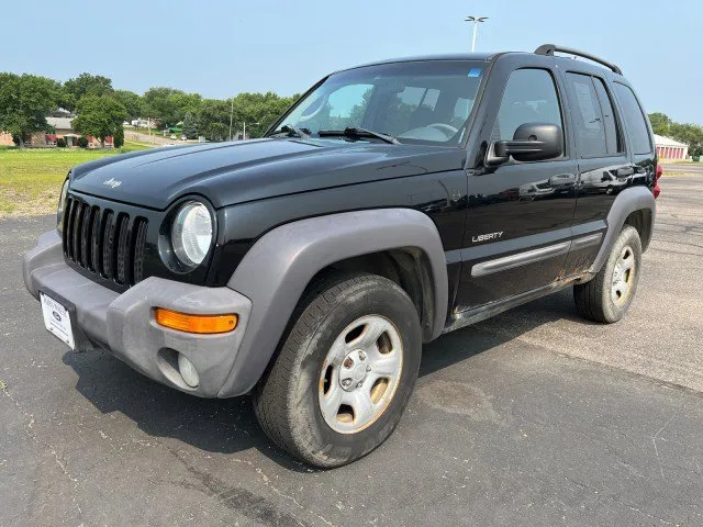
[[[198,201],[183,204],[171,227],[174,253],[186,267],[197,267],[208,256],[212,243],[212,216]]]

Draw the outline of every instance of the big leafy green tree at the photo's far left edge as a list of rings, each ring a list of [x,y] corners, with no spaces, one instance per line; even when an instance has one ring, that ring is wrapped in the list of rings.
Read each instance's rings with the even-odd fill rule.
[[[24,139],[46,130],[46,114],[56,108],[60,85],[35,75],[0,74],[0,130]]]

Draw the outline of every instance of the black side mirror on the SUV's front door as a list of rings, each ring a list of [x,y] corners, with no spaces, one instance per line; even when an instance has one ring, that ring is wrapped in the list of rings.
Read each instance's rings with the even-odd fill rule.
[[[512,156],[516,161],[554,159],[563,153],[561,126],[548,123],[521,124],[513,141],[493,143],[491,164],[505,162]]]

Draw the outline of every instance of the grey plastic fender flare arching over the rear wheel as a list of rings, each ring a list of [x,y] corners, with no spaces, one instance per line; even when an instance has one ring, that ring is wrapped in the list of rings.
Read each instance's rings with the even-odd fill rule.
[[[605,239],[603,239],[601,250],[599,250],[593,265],[589,269],[589,274],[595,274],[601,270],[611,253],[611,248],[613,247],[617,235],[623,229],[625,220],[627,220],[627,216],[633,212],[640,210],[646,212],[643,218],[644,236],[641,239],[641,247],[644,250],[647,249],[649,242],[651,240],[655,215],[657,212],[655,197],[652,195],[651,190],[647,187],[631,187],[617,194],[617,198],[615,198],[615,201],[611,205],[611,210],[607,213],[606,218],[607,232],[605,233]]]

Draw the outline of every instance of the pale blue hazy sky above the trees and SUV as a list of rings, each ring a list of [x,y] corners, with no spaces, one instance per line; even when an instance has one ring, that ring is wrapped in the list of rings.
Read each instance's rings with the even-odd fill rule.
[[[379,58],[557,43],[620,65],[648,112],[703,124],[702,0],[3,1],[0,70],[226,98],[292,94]]]

